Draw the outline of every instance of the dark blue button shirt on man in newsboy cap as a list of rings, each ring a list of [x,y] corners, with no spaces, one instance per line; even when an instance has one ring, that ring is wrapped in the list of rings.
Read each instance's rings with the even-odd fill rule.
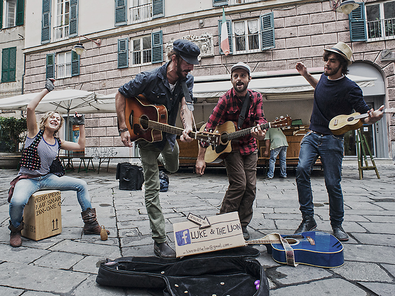
[[[173,92],[171,92],[170,84],[167,80],[168,65],[169,63],[166,63],[161,67],[137,74],[133,80],[119,87],[118,91],[126,98],[137,97],[142,94],[151,104],[163,105],[167,110],[167,123],[175,126],[179,105],[184,97],[181,81],[186,81],[191,98],[193,98],[194,76],[188,74],[185,79],[178,79]],[[168,133],[164,133],[163,140],[156,142],[155,145],[162,150],[166,144],[166,139],[171,148],[173,148],[176,135]]]

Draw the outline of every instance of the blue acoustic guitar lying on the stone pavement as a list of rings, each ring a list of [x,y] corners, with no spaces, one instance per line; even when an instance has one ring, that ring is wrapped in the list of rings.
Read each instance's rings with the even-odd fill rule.
[[[269,235],[268,235],[269,236]],[[296,264],[317,267],[339,267],[344,264],[342,243],[332,234],[306,231],[292,235],[281,235],[293,249]],[[286,251],[280,239],[257,239],[245,241],[247,245],[265,245],[268,253],[278,263],[287,263]]]

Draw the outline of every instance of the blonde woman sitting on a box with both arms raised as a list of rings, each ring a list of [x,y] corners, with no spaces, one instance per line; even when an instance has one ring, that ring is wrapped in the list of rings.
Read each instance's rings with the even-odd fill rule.
[[[28,136],[21,157],[21,168],[18,176],[11,182],[8,196],[10,203],[8,228],[11,230],[9,242],[12,247],[22,245],[23,210],[30,196],[43,189],[77,191],[84,222],[83,233],[100,235],[101,227],[96,220],[96,211],[90,203],[86,182],[63,176],[64,169],[57,159],[60,148],[72,151],[85,148],[84,116],[77,112],[75,115],[79,124],[78,143],[55,138],[55,134],[63,124],[63,117],[57,111],[45,113],[40,120],[40,125],[36,122],[35,110],[42,98],[54,89],[54,82],[55,79],[47,79],[45,88],[27,106]],[[107,233],[110,232],[107,231]]]

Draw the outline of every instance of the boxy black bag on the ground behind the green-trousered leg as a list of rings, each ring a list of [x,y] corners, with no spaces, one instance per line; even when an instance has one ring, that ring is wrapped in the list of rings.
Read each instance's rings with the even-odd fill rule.
[[[129,162],[119,162],[117,175],[120,190],[140,190],[144,183],[143,168]]]

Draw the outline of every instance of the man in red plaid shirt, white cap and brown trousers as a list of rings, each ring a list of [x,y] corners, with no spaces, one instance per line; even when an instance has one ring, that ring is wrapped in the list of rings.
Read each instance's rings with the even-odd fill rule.
[[[232,152],[224,159],[229,186],[222,201],[220,214],[238,212],[245,240],[249,239],[247,225],[252,219],[252,204],[256,195],[256,163],[258,149],[256,140],[265,139],[266,130],[260,124],[266,123],[263,113],[262,96],[260,93],[247,89],[251,81],[250,67],[237,63],[231,69],[233,88],[219,98],[217,106],[212,111],[206,131],[212,131],[216,126],[226,121],[237,123],[240,111],[247,95],[250,104],[240,129],[251,128],[251,134],[232,141]],[[256,125],[256,126],[255,126]],[[204,154],[208,144],[200,143],[196,161],[196,173],[203,175],[206,163]]]

